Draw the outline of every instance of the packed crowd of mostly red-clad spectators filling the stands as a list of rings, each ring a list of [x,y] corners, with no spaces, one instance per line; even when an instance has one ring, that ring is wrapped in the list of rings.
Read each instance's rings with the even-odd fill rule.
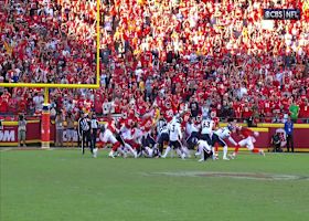
[[[95,0],[3,6],[0,82],[94,83]],[[306,7],[302,0],[104,0],[100,88],[52,90],[52,110],[143,115],[164,103],[221,118],[309,118]],[[263,8],[303,13],[266,21]],[[0,113],[40,114],[42,91],[0,93]]]

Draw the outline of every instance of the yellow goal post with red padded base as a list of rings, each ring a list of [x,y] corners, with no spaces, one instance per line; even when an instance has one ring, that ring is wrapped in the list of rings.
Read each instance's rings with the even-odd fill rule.
[[[51,138],[51,112],[49,104],[49,90],[50,88],[99,88],[99,43],[100,43],[100,0],[97,0],[96,8],[96,81],[95,84],[52,84],[52,83],[0,83],[0,87],[29,87],[29,88],[44,88],[44,104],[42,109],[42,122],[41,122],[41,147],[50,148]]]

